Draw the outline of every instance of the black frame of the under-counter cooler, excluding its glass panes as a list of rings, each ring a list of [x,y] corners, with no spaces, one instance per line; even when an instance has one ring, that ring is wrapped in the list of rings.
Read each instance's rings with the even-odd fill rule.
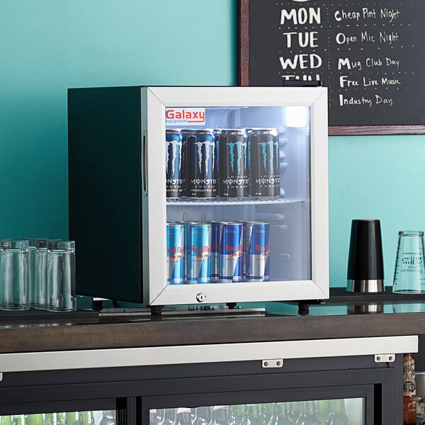
[[[363,423],[402,423],[402,356],[4,373],[0,415],[116,409],[119,424],[149,424],[149,409],[363,398]]]

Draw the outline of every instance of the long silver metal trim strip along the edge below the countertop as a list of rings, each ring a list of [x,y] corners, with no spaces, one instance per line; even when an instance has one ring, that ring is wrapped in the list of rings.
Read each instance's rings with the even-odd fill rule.
[[[378,336],[0,354],[0,373],[416,353],[418,336]]]

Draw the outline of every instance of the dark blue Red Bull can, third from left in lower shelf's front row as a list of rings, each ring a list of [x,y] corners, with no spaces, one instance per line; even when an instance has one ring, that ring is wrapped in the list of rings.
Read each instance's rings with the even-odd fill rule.
[[[244,246],[241,223],[220,225],[220,283],[242,282]]]

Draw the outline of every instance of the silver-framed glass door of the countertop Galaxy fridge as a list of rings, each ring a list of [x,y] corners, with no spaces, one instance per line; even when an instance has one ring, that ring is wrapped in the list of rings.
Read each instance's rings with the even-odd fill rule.
[[[327,297],[325,89],[150,90],[151,304]]]

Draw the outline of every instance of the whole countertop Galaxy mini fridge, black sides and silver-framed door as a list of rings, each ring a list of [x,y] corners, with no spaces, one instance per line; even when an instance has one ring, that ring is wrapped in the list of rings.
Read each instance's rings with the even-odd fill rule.
[[[329,297],[327,90],[69,89],[77,293]]]

